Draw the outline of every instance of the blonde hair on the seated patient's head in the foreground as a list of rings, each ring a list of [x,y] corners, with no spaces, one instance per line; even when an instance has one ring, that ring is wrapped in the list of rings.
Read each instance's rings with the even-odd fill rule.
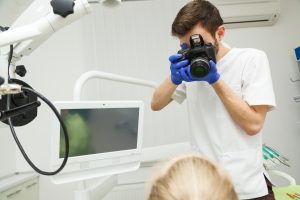
[[[148,200],[238,200],[227,172],[197,155],[177,156],[156,173]]]

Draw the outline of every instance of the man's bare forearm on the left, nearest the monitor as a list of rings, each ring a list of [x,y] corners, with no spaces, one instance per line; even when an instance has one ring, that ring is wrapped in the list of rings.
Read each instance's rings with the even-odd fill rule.
[[[156,88],[151,101],[151,109],[158,111],[167,106],[172,101],[171,96],[176,88],[177,85],[173,84],[171,78],[168,77]]]

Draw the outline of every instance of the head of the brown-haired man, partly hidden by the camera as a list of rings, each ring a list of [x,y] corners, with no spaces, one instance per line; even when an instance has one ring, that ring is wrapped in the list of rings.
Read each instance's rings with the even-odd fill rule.
[[[180,9],[172,24],[172,35],[178,37],[181,44],[186,43],[189,46],[190,36],[201,34],[205,42],[215,45],[216,52],[224,33],[219,10],[206,0],[192,0],[187,3]]]

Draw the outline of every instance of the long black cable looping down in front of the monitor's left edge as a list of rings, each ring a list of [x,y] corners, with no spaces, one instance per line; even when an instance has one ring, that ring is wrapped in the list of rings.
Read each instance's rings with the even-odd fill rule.
[[[27,156],[27,154],[26,154],[25,150],[23,149],[23,147],[22,147],[22,145],[21,145],[21,143],[20,143],[20,141],[17,137],[17,134],[14,130],[11,118],[8,118],[10,130],[12,132],[14,140],[16,141],[16,144],[18,145],[22,155],[24,156],[24,158],[28,162],[28,164],[39,174],[46,175],[46,176],[55,175],[55,174],[59,173],[65,167],[65,165],[67,164],[68,158],[69,158],[69,137],[68,137],[67,128],[66,128],[66,126],[63,122],[63,119],[61,118],[59,112],[57,111],[55,106],[47,98],[45,98],[42,94],[38,93],[37,91],[35,91],[35,90],[33,90],[32,88],[29,88],[29,87],[22,86],[22,90],[34,93],[36,96],[38,96],[40,99],[42,99],[52,109],[52,111],[55,113],[56,117],[58,118],[58,120],[59,120],[59,122],[60,122],[60,124],[63,128],[63,132],[64,132],[64,136],[65,136],[65,157],[64,157],[64,160],[63,160],[61,166],[53,172],[45,172],[45,171],[42,171],[39,168],[37,168],[32,163],[32,161],[29,159],[29,157]],[[10,95],[8,95],[8,97],[7,97],[7,109],[9,109],[9,107],[10,107]]]

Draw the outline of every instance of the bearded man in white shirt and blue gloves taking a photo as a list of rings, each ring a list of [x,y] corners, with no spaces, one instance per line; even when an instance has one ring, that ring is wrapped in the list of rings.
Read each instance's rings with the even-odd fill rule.
[[[160,110],[173,99],[187,100],[192,148],[225,167],[240,199],[274,199],[265,177],[261,129],[275,106],[267,56],[256,49],[228,48],[218,9],[205,0],[187,3],[172,24],[183,49],[200,34],[215,47],[216,62],[202,78],[190,73],[190,61],[170,56],[171,75],[156,89],[151,102]]]

